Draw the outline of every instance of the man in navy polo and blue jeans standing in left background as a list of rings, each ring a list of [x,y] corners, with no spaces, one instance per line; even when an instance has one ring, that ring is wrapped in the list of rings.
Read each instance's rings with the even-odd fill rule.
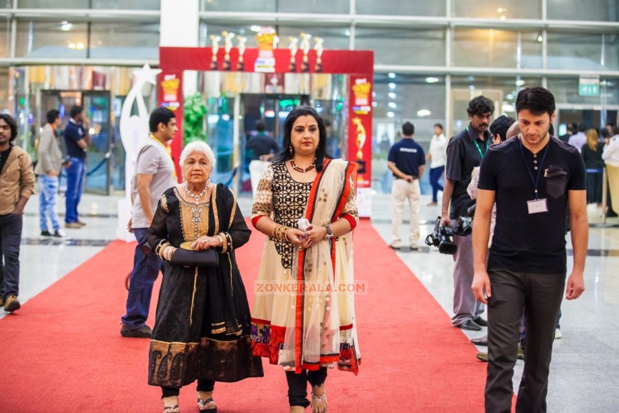
[[[86,151],[90,145],[88,119],[84,116],[81,106],[74,106],[70,112],[71,118],[65,127],[65,143],[71,165],[67,168],[67,212],[65,227],[81,228],[86,225],[80,221],[77,207],[84,191],[86,180]]]

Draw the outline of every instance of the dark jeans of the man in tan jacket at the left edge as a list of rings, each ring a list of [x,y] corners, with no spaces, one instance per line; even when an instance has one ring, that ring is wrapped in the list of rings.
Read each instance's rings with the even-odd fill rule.
[[[5,299],[9,295],[19,295],[19,244],[22,226],[23,215],[0,215],[0,297]]]

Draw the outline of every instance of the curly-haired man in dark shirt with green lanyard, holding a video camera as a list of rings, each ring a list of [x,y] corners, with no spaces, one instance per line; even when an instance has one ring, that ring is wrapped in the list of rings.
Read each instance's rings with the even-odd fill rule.
[[[479,167],[488,147],[492,145],[492,136],[488,132],[492,112],[495,112],[492,100],[477,96],[470,100],[466,112],[470,123],[464,131],[451,138],[447,145],[441,213],[444,226],[455,227],[459,217],[468,217],[468,207],[474,202],[466,192],[470,184],[470,175],[473,168]],[[448,215],[449,201],[451,201],[451,213]],[[455,235],[453,240],[458,248],[453,256],[454,316],[451,323],[463,330],[479,331],[482,326],[487,325],[487,322],[481,318],[484,304],[477,301],[470,290],[470,284],[473,282],[473,242],[470,235]]]

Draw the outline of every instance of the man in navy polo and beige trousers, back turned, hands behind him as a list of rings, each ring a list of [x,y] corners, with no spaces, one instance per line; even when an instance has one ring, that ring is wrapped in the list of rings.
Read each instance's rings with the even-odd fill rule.
[[[400,239],[400,226],[402,226],[402,213],[404,213],[404,201],[409,200],[411,210],[411,229],[409,241],[411,250],[417,251],[419,242],[419,211],[421,191],[419,181],[424,174],[426,156],[424,149],[413,140],[415,126],[406,122],[402,125],[402,140],[395,143],[389,149],[387,166],[393,172],[393,187],[391,198],[393,199],[393,235],[389,246],[399,250],[402,240]]]

